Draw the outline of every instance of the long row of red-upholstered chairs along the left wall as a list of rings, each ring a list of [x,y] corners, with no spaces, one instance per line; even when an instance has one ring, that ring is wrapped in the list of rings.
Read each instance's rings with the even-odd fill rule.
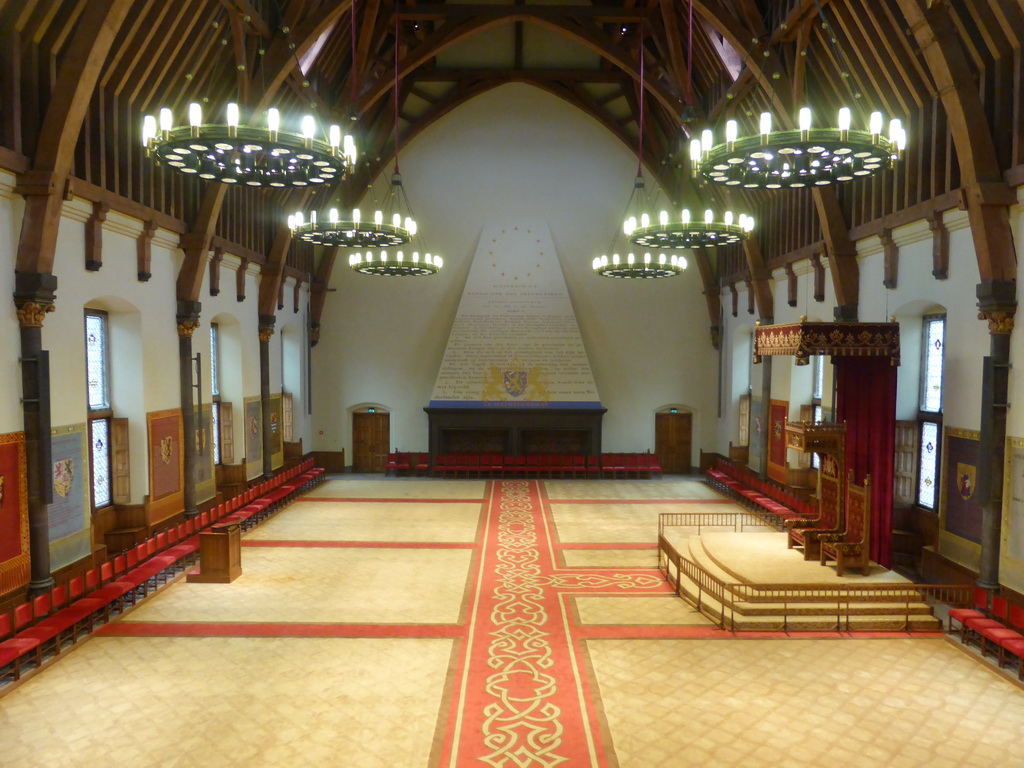
[[[324,470],[312,460],[261,482],[234,499],[115,555],[97,567],[73,577],[49,592],[0,613],[0,679],[22,677],[22,665],[31,659],[42,666],[45,652],[59,654],[66,642],[92,632],[95,622],[106,623],[190,567],[199,551],[199,531],[214,522],[251,526],[280,509],[294,496],[322,482]],[[6,639],[4,639],[6,638]]]

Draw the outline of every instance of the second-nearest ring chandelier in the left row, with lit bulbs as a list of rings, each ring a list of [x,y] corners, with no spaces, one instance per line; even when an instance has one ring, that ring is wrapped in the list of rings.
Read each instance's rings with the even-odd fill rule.
[[[327,217],[315,211],[306,221],[301,213],[288,217],[292,234],[316,246],[339,248],[393,248],[409,243],[417,233],[416,219],[401,184],[401,174],[391,174],[383,205],[372,218],[364,218],[358,208],[342,217],[332,208]]]

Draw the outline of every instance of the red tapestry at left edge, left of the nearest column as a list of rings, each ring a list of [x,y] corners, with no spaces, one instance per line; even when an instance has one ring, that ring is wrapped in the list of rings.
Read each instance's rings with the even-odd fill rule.
[[[30,579],[25,432],[0,434],[0,592]]]

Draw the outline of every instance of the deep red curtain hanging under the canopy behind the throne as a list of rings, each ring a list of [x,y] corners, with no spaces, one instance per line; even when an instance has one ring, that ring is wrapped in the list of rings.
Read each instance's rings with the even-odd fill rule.
[[[871,560],[890,566],[896,367],[889,357],[837,356],[836,421],[846,422],[847,469],[871,476]]]

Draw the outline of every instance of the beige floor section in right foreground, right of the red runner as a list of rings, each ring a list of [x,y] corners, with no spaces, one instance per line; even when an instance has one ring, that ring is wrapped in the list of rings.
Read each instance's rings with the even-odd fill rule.
[[[590,640],[587,648],[622,768],[666,764],[667,741],[679,768],[1024,764],[1024,695],[944,640]],[[983,718],[979,700],[988,705]]]

